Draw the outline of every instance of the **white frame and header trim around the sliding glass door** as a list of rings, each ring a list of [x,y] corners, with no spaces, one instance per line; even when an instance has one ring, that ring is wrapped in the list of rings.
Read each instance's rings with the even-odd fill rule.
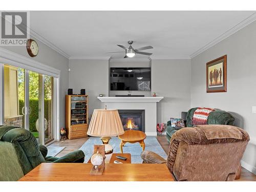
[[[60,70],[35,61],[31,58],[19,55],[12,51],[0,48],[0,124],[4,124],[4,64],[23,68],[40,74],[55,77],[54,79],[54,101],[53,101],[53,118],[54,118],[54,139],[59,140],[59,78]],[[28,80],[28,79],[27,79]],[[26,79],[25,79],[26,81]],[[25,108],[26,109],[26,108]],[[27,112],[29,109],[26,109]]]

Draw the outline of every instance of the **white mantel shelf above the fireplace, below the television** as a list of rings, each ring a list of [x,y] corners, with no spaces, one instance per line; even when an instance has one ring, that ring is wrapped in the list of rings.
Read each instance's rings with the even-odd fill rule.
[[[101,102],[159,102],[163,97],[98,97]]]

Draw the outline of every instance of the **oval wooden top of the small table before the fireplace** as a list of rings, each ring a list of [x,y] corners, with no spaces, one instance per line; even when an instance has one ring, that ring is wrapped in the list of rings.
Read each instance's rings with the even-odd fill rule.
[[[137,142],[144,140],[146,138],[146,134],[141,131],[129,130],[125,131],[124,134],[118,136],[119,139],[126,142]]]

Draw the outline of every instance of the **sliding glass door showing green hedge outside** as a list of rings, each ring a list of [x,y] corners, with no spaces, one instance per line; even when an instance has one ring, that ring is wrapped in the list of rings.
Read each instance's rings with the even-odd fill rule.
[[[54,140],[54,78],[4,65],[4,123],[25,128],[39,144]]]

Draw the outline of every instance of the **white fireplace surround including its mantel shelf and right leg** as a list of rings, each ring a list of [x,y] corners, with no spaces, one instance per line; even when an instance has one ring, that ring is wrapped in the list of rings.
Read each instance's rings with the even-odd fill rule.
[[[163,97],[98,97],[108,109],[145,110],[145,134],[156,136],[157,102]]]

